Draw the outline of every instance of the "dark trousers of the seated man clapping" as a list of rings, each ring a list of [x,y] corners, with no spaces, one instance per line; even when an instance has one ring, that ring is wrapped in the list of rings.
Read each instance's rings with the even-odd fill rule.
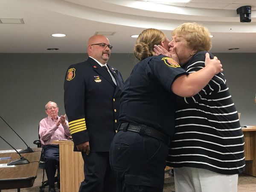
[[[46,145],[44,150],[44,168],[47,175],[49,186],[54,187],[55,173],[60,164],[59,145]]]

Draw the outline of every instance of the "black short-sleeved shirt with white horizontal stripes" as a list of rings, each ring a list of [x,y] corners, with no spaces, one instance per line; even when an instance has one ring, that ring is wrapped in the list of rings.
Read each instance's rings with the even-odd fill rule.
[[[184,66],[188,73],[204,67],[206,52]],[[195,167],[233,175],[244,170],[244,135],[223,73],[215,75],[197,95],[178,98],[175,135],[167,165]]]

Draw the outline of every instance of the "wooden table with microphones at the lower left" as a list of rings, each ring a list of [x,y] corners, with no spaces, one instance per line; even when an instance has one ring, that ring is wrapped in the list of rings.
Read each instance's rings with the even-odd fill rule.
[[[0,168],[0,191],[1,189],[17,189],[32,187],[36,178],[41,157],[41,148],[34,148],[33,153],[21,154],[30,163],[16,165],[15,167]],[[0,160],[0,163],[9,163],[10,161],[20,159],[17,152],[0,153],[0,157],[12,157],[12,159]]]

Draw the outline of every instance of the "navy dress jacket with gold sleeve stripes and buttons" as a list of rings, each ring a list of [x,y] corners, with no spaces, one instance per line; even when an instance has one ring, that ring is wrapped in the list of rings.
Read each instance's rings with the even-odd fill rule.
[[[71,65],[64,81],[64,105],[76,145],[89,141],[90,151],[109,151],[118,128],[121,73],[108,65],[116,80],[95,60]]]

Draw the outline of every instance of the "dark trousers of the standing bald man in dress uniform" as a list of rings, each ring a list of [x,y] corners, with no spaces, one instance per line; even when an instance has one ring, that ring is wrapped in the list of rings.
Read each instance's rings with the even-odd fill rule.
[[[116,180],[109,163],[109,152],[81,152],[84,160],[84,181],[79,192],[116,192]]]

